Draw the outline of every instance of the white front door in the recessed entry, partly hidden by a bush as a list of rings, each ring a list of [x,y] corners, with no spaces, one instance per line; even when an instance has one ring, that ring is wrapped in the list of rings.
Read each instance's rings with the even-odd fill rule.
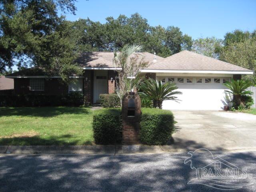
[[[94,71],[94,103],[100,102],[100,94],[108,93],[108,80],[106,70]]]

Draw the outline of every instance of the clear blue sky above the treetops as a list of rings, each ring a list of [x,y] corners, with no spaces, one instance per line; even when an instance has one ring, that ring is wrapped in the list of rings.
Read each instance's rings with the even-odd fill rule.
[[[67,20],[105,18],[138,12],[151,26],[178,26],[192,38],[224,38],[235,29],[256,29],[256,0],[78,0],[76,15]]]

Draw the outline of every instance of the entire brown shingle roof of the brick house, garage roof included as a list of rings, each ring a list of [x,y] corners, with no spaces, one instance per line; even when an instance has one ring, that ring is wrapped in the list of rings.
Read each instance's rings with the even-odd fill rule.
[[[119,53],[119,52],[118,52]],[[241,71],[251,72],[246,68],[242,68],[227,62],[223,62],[214,58],[210,58],[201,54],[190,51],[182,51],[167,58],[162,58],[148,52],[141,53],[144,61],[149,62],[146,69],[150,70],[200,70],[200,71]],[[84,52],[78,57],[76,62],[82,67],[104,67],[113,68],[113,52]],[[43,68],[28,68],[8,74],[8,76],[44,76],[46,72]]]

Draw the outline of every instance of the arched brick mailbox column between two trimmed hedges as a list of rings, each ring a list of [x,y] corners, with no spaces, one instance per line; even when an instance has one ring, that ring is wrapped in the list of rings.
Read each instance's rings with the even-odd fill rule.
[[[135,92],[128,92],[122,100],[122,144],[140,143],[140,96]]]

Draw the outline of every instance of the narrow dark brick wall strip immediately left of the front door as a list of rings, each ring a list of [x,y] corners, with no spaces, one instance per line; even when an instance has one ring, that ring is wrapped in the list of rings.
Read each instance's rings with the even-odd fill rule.
[[[83,82],[83,93],[84,102],[93,103],[93,81],[94,81],[94,71],[85,70],[84,71],[84,82]]]

